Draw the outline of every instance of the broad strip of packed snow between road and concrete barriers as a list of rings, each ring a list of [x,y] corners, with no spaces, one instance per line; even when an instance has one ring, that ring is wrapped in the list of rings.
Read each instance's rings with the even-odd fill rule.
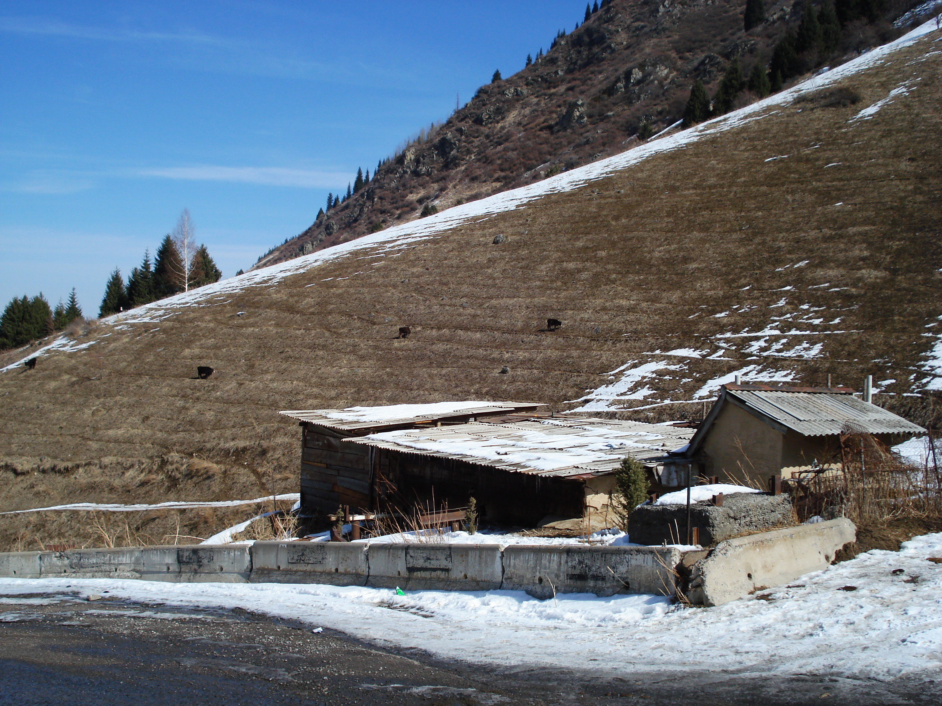
[[[715,608],[664,597],[517,591],[406,591],[291,584],[168,584],[0,579],[0,592],[80,597],[103,591],[153,608],[242,608],[381,646],[495,666],[597,670],[625,678],[723,674],[890,680],[942,669],[942,534],[873,550],[788,586]],[[156,612],[156,611],[155,611]]]

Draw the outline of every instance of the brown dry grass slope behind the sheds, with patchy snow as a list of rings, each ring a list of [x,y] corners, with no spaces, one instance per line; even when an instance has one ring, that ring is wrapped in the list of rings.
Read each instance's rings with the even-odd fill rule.
[[[0,508],[294,490],[297,429],[279,409],[469,398],[573,409],[589,396],[648,408],[640,418],[698,416],[686,401],[736,370],[918,389],[937,340],[923,334],[942,314],[940,37],[408,248],[359,249],[202,307],[170,300],[159,323],[103,322],[78,341],[89,347],[0,374]],[[852,120],[901,85],[908,95]],[[860,102],[828,100],[835,88]],[[541,330],[548,316],[563,327]],[[396,338],[400,325],[413,334]],[[704,352],[658,353],[681,348]],[[628,362],[653,372],[635,384],[602,375]],[[194,379],[201,364],[216,373]],[[624,399],[607,400],[620,382]],[[671,401],[682,404],[649,407]],[[204,537],[230,514],[194,513],[180,531]],[[83,531],[57,522],[7,516],[0,545]],[[152,534],[173,529],[152,522]]]

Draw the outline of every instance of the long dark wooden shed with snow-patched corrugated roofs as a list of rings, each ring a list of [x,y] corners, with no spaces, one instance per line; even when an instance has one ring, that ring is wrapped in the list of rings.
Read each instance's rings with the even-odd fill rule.
[[[457,424],[455,410],[442,418],[416,409],[414,418],[395,425],[379,428],[373,419],[367,427],[339,430],[336,420],[331,426],[323,421],[337,410],[285,412],[304,429],[302,505],[310,511],[337,505],[377,511],[388,505],[457,507],[474,497],[487,521],[534,526],[587,512],[601,518],[623,458],[638,457],[653,470],[693,434],[669,425],[535,417],[526,411],[535,406],[474,404],[479,407],[464,409],[466,419]],[[386,408],[369,409],[366,414],[376,417]]]

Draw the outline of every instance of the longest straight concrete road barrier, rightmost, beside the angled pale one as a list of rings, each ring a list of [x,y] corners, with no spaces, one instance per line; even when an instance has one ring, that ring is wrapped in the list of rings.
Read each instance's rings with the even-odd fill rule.
[[[511,545],[504,549],[501,588],[540,599],[555,593],[674,595],[680,557],[667,547]]]

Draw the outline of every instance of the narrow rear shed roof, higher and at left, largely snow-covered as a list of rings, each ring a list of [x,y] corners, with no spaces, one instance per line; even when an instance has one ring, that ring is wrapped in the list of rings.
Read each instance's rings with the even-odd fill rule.
[[[457,403],[462,404],[462,403]],[[467,417],[482,417],[495,414],[510,414],[519,411],[535,411],[542,405],[524,402],[479,402],[468,403],[467,407],[460,409],[436,409],[438,404],[429,405],[396,405],[385,407],[358,407],[349,409],[284,409],[280,414],[296,419],[299,422],[309,422],[337,431],[364,431],[369,429],[385,429],[395,426],[428,424],[431,422],[444,422],[448,419],[464,419]],[[412,414],[401,416],[388,416],[386,411],[396,408],[409,408]]]

